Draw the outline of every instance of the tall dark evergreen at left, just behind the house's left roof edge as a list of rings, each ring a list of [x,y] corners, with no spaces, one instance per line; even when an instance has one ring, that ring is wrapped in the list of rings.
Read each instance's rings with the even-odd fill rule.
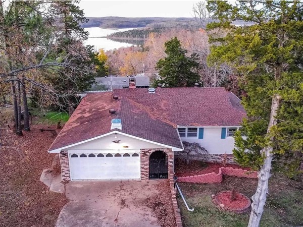
[[[58,59],[61,55],[66,56],[68,54],[70,67],[53,74],[49,80],[60,93],[68,90],[71,94],[74,94],[68,98],[68,101],[61,99],[62,105],[66,107],[70,115],[78,103],[76,93],[88,90],[93,84],[93,72],[95,70],[93,68],[94,64],[97,63],[93,47],[85,47],[83,44],[88,38],[88,32],[80,24],[87,23],[88,20],[84,17],[83,10],[80,10],[77,6],[78,3],[79,1],[54,1],[52,3],[52,7],[55,9],[61,24],[58,47],[53,52],[53,58]],[[78,58],[74,58],[77,55],[83,56],[81,61],[78,61]],[[79,70],[75,71],[74,68]]]

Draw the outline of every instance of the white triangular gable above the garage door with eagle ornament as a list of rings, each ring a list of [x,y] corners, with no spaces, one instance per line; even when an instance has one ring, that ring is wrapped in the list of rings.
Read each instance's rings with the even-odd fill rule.
[[[121,140],[119,143],[112,142],[113,140]],[[128,146],[128,148],[123,148],[123,146]],[[146,148],[165,148],[157,144],[148,143],[142,140],[117,134],[117,139],[115,139],[115,134],[108,135],[102,138],[98,138],[86,143],[82,143],[73,147],[68,148],[68,150],[123,150],[123,149],[146,149]]]

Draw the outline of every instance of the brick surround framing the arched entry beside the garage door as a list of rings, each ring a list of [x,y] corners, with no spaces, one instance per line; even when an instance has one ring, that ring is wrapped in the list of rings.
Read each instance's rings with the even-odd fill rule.
[[[162,150],[166,153],[168,158],[168,179],[172,180],[174,177],[174,153],[171,148],[163,149],[141,149],[140,158],[141,158],[141,180],[149,179],[149,156],[151,153]]]

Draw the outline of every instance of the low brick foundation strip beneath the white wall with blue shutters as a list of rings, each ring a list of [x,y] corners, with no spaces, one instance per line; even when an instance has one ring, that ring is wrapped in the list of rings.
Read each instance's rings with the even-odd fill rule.
[[[192,154],[190,160],[201,160],[213,163],[222,163],[226,156],[226,163],[237,164],[233,159],[233,154]],[[186,154],[181,152],[175,152],[176,158],[186,158]]]

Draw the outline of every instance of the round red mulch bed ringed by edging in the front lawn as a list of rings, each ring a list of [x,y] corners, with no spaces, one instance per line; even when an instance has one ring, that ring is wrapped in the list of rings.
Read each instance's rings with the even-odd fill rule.
[[[224,208],[228,209],[241,209],[248,205],[249,201],[247,201],[247,198],[239,193],[236,193],[235,200],[230,200],[231,192],[223,192],[217,196],[217,199],[220,203],[224,204]]]

